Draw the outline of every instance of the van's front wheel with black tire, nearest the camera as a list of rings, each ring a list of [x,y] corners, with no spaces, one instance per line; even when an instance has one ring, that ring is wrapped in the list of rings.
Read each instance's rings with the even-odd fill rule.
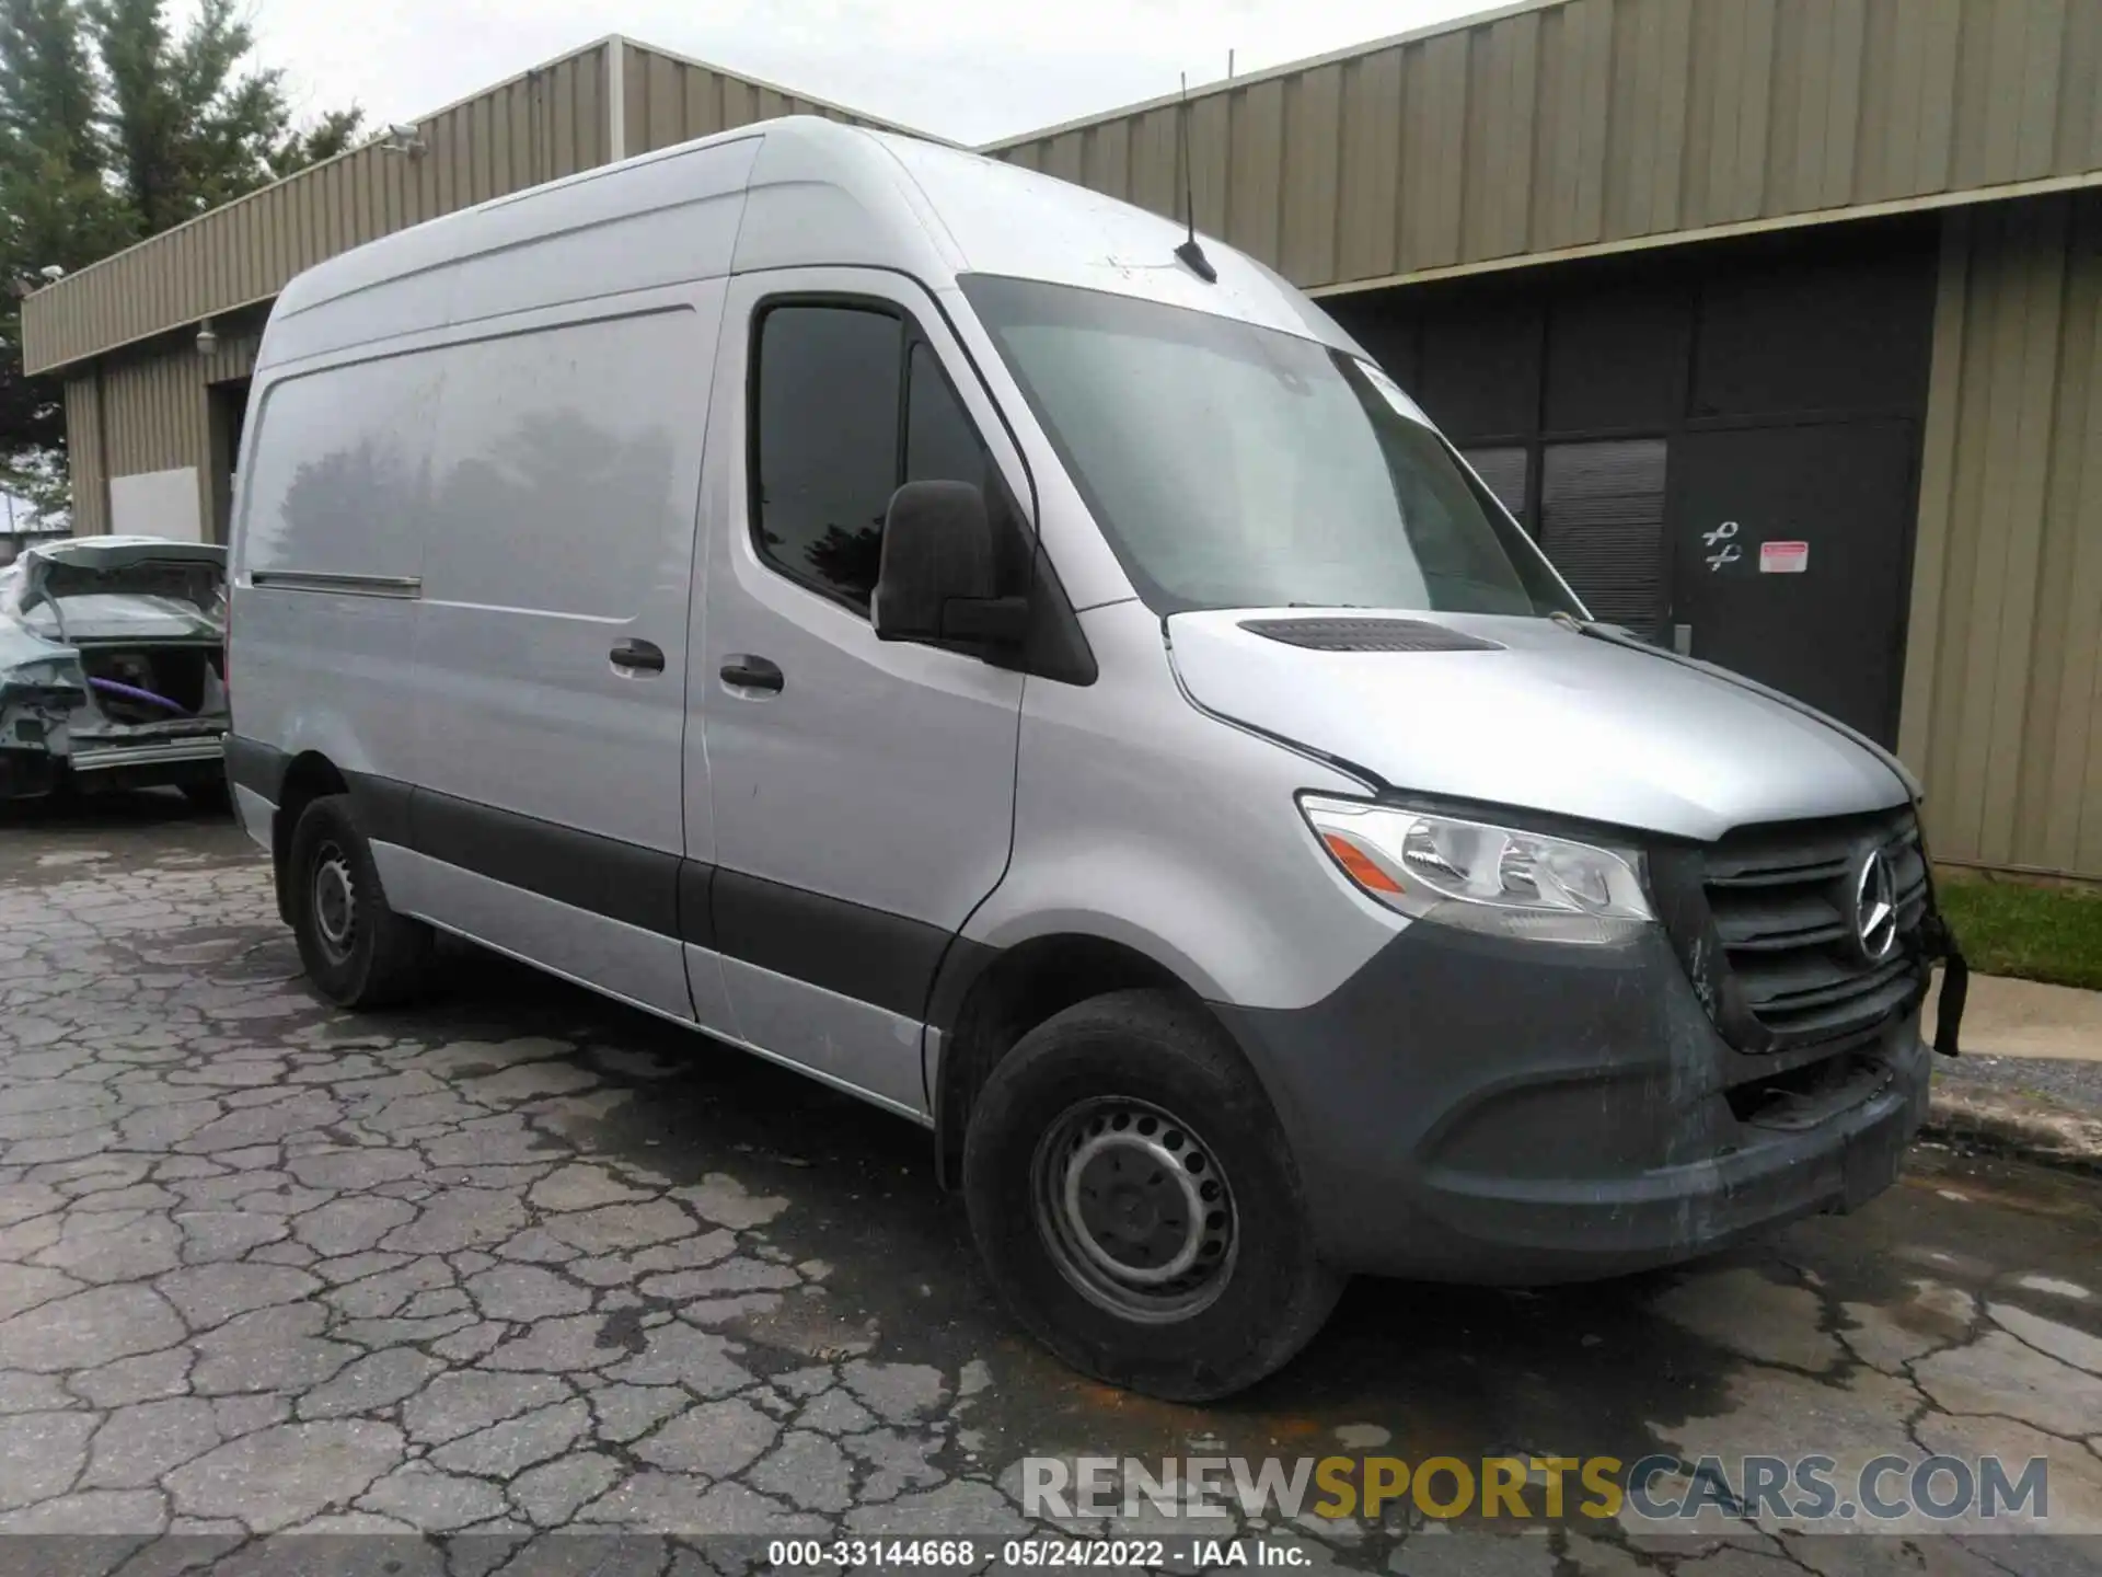
[[[1217,1194],[1196,1196],[1194,1180]],[[971,1110],[963,1196],[1015,1318],[1080,1373],[1150,1396],[1207,1402],[1253,1386],[1314,1339],[1343,1291],[1314,1253],[1255,1074],[1209,1013],[1158,990],[1093,997],[1022,1037]],[[1198,1243],[1179,1278],[1120,1285],[1173,1270],[1200,1238],[1219,1247]],[[1097,1268],[1104,1241],[1114,1268]]]

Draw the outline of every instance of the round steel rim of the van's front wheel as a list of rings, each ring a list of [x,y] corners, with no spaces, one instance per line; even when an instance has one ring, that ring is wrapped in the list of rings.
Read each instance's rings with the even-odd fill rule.
[[[1036,1232],[1059,1274],[1127,1320],[1209,1308],[1240,1251],[1234,1194],[1211,1146],[1150,1102],[1068,1106],[1030,1163]]]

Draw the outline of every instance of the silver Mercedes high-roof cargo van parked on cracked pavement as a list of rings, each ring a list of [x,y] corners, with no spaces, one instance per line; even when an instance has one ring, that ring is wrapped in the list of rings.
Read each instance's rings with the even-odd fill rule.
[[[320,992],[452,931],[923,1123],[1104,1379],[1848,1209],[1919,1123],[1904,770],[1593,624],[1137,208],[820,120],[628,160],[294,280],[240,479]]]

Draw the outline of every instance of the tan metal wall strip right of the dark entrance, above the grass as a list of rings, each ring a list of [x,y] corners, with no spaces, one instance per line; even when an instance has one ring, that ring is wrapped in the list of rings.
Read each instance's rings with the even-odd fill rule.
[[[1898,749],[1936,858],[2102,879],[2102,193],[1944,221]]]

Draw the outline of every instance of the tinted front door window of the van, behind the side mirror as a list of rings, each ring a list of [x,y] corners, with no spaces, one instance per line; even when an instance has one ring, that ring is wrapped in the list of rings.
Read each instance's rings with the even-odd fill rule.
[[[898,309],[784,301],[753,332],[750,521],[767,564],[866,614],[883,517],[904,482],[977,484],[996,540],[1015,538],[992,456]]]

